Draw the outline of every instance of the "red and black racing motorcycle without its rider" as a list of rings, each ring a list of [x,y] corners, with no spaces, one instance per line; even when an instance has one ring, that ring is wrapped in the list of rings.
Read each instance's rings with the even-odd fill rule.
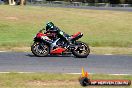
[[[70,36],[70,41],[72,44],[69,44],[63,37],[62,33],[43,33],[40,30],[36,36],[34,37],[34,43],[31,46],[31,51],[35,56],[44,57],[48,55],[71,55],[78,58],[86,58],[90,49],[89,46],[81,41],[77,41],[80,39],[83,34],[81,32],[77,32],[74,35]],[[40,36],[45,37],[45,39],[41,39]],[[48,38],[53,40],[52,42],[47,42]]]

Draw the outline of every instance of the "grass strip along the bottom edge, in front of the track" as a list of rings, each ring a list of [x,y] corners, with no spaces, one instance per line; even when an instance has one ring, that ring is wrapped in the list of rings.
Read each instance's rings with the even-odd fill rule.
[[[78,82],[80,75],[48,73],[0,74],[0,88],[83,88]],[[132,76],[95,74],[90,79],[126,79]],[[88,88],[131,88],[132,86],[90,86]]]

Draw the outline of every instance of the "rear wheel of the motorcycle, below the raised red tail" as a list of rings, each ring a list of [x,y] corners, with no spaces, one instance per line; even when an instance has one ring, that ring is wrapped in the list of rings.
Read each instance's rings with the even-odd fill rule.
[[[84,42],[77,41],[75,43],[75,49],[72,50],[72,54],[78,58],[86,58],[90,53],[89,46]]]

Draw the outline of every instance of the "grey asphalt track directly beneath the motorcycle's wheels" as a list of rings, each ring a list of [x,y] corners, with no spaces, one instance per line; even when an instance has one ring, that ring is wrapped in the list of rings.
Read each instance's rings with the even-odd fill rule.
[[[81,73],[84,67],[89,73],[132,74],[132,56],[89,55],[35,57],[32,53],[1,52],[0,72],[51,72]]]

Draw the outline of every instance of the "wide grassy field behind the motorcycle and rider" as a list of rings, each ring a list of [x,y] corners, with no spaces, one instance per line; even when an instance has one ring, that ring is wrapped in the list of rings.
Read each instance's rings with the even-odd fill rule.
[[[0,47],[30,46],[48,21],[93,47],[132,46],[132,12],[0,5]]]

